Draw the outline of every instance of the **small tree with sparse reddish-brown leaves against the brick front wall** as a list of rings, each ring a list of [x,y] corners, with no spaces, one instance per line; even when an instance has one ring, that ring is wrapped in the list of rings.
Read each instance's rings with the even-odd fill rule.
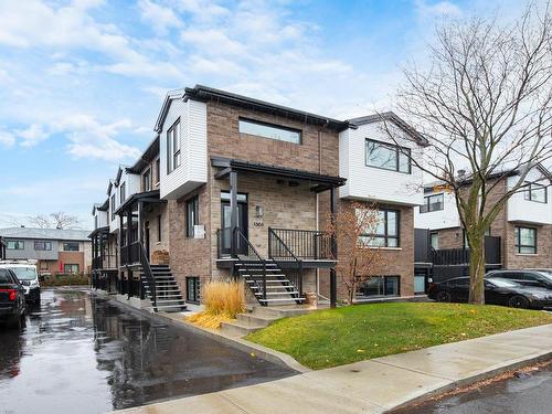
[[[336,272],[347,288],[347,301],[353,304],[359,286],[381,269],[383,255],[371,234],[381,223],[375,204],[352,202],[328,220],[326,240],[335,236],[339,243]],[[328,244],[329,245],[329,244]]]

